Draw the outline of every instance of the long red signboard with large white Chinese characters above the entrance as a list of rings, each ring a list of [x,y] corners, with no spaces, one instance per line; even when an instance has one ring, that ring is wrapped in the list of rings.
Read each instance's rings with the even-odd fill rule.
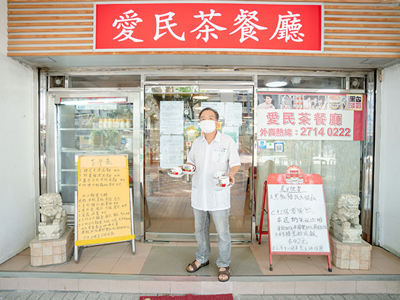
[[[321,5],[97,4],[95,28],[96,50],[322,50]]]

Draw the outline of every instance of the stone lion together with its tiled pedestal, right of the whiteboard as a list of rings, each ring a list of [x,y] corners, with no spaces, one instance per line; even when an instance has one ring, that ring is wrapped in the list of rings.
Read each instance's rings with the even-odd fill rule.
[[[361,239],[360,198],[341,194],[331,216],[332,263],[340,269],[369,269],[372,246]]]

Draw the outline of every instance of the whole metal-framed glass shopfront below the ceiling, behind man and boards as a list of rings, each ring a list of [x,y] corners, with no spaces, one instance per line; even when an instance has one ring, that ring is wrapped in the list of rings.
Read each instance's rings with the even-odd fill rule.
[[[198,113],[207,106],[219,112],[219,130],[233,136],[242,160],[232,190],[235,242],[255,240],[263,182],[268,174],[285,173],[292,165],[304,173],[322,175],[328,217],[340,194],[359,195],[365,203],[364,235],[370,239],[372,191],[359,188],[372,185],[372,166],[360,162],[373,156],[369,152],[373,147],[365,140],[365,124],[374,122],[373,115],[366,113],[371,106],[368,99],[374,97],[365,93],[367,85],[373,84],[373,72],[238,70],[234,76],[195,69],[182,70],[184,76],[174,74],[173,69],[147,72],[40,73],[41,90],[47,91],[40,104],[40,140],[44,141],[41,186],[62,194],[71,224],[78,158],[126,154],[138,239],[193,241],[190,176],[171,178],[168,172],[185,163],[193,140],[201,135]],[[276,78],[285,78],[288,88],[265,85]],[[353,81],[358,86],[347,88]],[[274,109],[269,113],[262,108],[265,95],[273,99]],[[360,98],[359,110],[347,109],[350,97]],[[332,108],[331,99],[335,98],[340,107]],[[278,113],[289,113],[292,119],[285,121]],[[345,120],[347,114],[349,121]],[[289,136],[268,128],[277,125],[277,121],[270,125],[266,120],[274,116],[282,120]],[[308,122],[302,121],[306,116]],[[317,116],[323,119],[316,121]],[[335,116],[340,117],[340,126],[330,119]],[[299,128],[294,126],[296,122]]]

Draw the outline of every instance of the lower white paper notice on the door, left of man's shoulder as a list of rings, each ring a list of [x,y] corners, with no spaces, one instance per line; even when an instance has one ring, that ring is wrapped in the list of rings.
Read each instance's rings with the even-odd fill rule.
[[[183,165],[183,135],[160,135],[160,169]]]

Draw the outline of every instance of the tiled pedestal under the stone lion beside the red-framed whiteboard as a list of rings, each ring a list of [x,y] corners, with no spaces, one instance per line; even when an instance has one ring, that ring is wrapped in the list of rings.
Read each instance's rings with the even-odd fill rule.
[[[332,263],[339,269],[363,269],[371,267],[372,246],[364,240],[361,244],[343,243],[331,236]]]

